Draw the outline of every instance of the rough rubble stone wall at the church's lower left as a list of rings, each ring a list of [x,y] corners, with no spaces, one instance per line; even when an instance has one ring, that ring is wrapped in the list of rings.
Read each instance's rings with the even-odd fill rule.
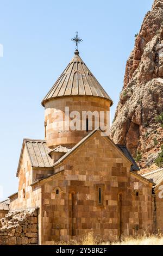
[[[0,220],[0,245],[37,245],[37,209],[9,211]]]

